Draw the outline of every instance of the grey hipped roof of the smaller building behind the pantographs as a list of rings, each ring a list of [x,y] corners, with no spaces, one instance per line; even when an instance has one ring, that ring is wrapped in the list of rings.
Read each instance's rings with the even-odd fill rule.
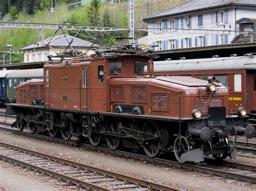
[[[49,45],[52,47],[66,48],[66,47],[68,47],[69,42],[72,40],[72,38],[73,38],[73,42],[71,44],[72,47],[88,48],[92,45],[92,43],[90,43],[86,40],[72,37],[68,34],[60,34],[60,35],[54,36],[53,38],[49,37],[44,40],[38,41],[37,43],[34,43],[34,44],[28,45],[24,48],[21,48],[21,51],[28,51],[28,50],[32,50],[32,49],[36,49],[36,48],[46,48],[46,47],[49,47]],[[96,47],[99,47],[99,45],[95,44],[92,47],[96,48]]]

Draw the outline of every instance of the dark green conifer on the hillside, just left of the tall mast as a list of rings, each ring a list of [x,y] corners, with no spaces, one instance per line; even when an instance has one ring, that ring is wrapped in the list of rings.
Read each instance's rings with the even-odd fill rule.
[[[100,0],[91,0],[88,10],[88,18],[92,26],[97,26],[99,23],[99,7]]]

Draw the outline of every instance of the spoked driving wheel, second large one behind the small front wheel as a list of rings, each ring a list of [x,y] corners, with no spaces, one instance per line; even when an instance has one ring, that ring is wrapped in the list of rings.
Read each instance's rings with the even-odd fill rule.
[[[118,123],[117,121],[113,121],[113,119],[109,119],[106,123],[106,132],[118,132]],[[106,135],[106,143],[112,150],[118,148],[120,143],[120,137]]]

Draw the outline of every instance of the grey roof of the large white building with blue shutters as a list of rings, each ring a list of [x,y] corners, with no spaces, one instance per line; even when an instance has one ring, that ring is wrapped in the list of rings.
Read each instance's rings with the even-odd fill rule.
[[[159,17],[166,17],[172,15],[178,15],[180,13],[186,12],[194,12],[206,9],[214,9],[223,6],[231,6],[231,5],[246,5],[246,6],[255,6],[256,8],[256,1],[255,0],[190,0],[185,3],[179,4],[174,6],[171,9],[167,9],[165,11],[156,13],[152,16],[144,18],[144,22],[150,21],[154,18]]]

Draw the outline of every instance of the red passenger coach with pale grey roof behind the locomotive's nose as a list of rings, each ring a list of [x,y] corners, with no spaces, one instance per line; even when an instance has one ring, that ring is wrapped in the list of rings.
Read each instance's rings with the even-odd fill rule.
[[[154,75],[191,76],[207,80],[214,76],[229,88],[230,110],[246,107],[256,120],[256,56],[166,60],[154,62]],[[252,116],[252,117],[253,117]]]

